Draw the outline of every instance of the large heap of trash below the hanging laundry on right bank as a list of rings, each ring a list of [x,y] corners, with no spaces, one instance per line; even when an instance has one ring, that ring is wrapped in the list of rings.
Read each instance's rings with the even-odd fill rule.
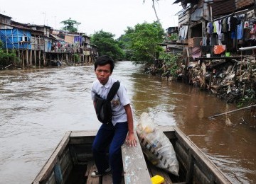
[[[199,61],[191,68],[190,73],[193,85],[208,89],[229,103],[255,101],[255,57],[245,57],[241,61],[234,59],[232,62],[225,62],[223,59],[208,63]]]

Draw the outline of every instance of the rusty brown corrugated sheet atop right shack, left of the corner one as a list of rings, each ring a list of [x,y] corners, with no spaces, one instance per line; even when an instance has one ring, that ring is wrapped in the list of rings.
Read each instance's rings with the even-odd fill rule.
[[[241,1],[241,0],[240,0]],[[235,0],[214,0],[212,4],[213,16],[232,13],[236,10]]]

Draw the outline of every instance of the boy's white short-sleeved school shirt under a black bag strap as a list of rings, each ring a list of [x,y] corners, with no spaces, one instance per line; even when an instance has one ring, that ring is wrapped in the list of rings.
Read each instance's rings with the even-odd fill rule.
[[[114,82],[117,81],[116,79],[113,79],[112,77],[109,78],[107,81],[107,84],[102,85],[100,84],[100,81],[96,80],[92,83],[91,88],[91,96],[92,100],[95,100],[95,94],[97,93],[101,98],[106,99],[107,94],[110,91],[110,88],[114,84]],[[120,82],[120,87],[117,91],[117,94],[114,96],[114,98],[111,101],[111,107],[112,107],[112,124],[116,125],[117,122],[127,122],[127,114],[124,110],[124,105],[127,105],[130,103],[130,100],[127,96],[126,88],[122,85],[122,82]]]

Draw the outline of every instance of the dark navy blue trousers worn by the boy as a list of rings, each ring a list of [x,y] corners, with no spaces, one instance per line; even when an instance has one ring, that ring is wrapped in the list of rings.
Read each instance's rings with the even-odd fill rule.
[[[114,184],[122,180],[122,151],[121,146],[127,137],[127,122],[118,122],[115,126],[102,124],[92,144],[93,157],[100,173],[110,166]],[[110,146],[110,149],[108,147]],[[107,159],[109,153],[109,161]]]

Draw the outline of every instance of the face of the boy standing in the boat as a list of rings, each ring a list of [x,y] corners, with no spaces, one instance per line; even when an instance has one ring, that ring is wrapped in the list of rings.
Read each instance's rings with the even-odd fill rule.
[[[95,70],[95,74],[102,85],[107,84],[107,81],[112,74],[110,70],[110,64],[105,64],[102,66],[98,65]]]

